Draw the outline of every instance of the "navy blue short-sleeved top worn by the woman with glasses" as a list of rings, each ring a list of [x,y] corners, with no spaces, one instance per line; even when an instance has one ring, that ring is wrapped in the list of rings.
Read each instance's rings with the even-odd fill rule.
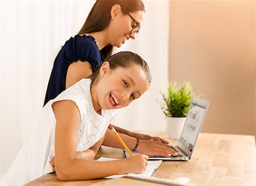
[[[101,64],[103,59],[104,57],[92,36],[76,35],[74,38],[71,37],[60,49],[54,61],[44,105],[65,90],[68,67],[71,63],[78,60],[88,61],[95,72],[97,65]]]

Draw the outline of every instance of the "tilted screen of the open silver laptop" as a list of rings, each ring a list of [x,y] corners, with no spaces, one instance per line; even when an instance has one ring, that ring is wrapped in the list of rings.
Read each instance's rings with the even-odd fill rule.
[[[187,114],[185,125],[180,135],[178,146],[189,157],[191,157],[195,147],[197,137],[200,133],[201,126],[207,113],[209,101],[194,97]]]

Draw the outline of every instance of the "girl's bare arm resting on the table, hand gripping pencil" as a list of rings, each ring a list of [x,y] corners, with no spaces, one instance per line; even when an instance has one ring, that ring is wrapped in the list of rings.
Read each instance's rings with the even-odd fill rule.
[[[146,168],[146,155],[106,162],[76,158],[79,109],[75,102],[70,100],[55,102],[52,107],[56,117],[55,170],[60,180],[86,180],[129,172],[141,173]],[[100,144],[99,141],[96,146],[90,148],[94,151],[93,154]],[[89,154],[89,151],[87,153]]]

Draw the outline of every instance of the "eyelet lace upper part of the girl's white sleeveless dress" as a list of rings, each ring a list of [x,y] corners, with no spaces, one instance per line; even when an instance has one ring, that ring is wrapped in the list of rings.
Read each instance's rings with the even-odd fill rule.
[[[72,100],[76,103],[80,111],[81,123],[77,132],[77,151],[84,151],[92,147],[98,140],[100,140],[110,120],[112,119],[115,110],[101,110],[101,115],[96,113],[92,104],[92,97],[90,94],[90,79],[82,79],[76,85],[68,88],[54,100],[47,103],[50,112],[49,117],[56,122],[51,105],[53,102],[61,100]]]

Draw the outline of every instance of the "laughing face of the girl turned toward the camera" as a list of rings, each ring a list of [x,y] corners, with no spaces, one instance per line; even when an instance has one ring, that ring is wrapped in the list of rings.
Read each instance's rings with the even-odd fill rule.
[[[138,65],[111,70],[105,62],[100,69],[95,94],[94,109],[119,109],[141,97],[148,88],[145,73]]]

